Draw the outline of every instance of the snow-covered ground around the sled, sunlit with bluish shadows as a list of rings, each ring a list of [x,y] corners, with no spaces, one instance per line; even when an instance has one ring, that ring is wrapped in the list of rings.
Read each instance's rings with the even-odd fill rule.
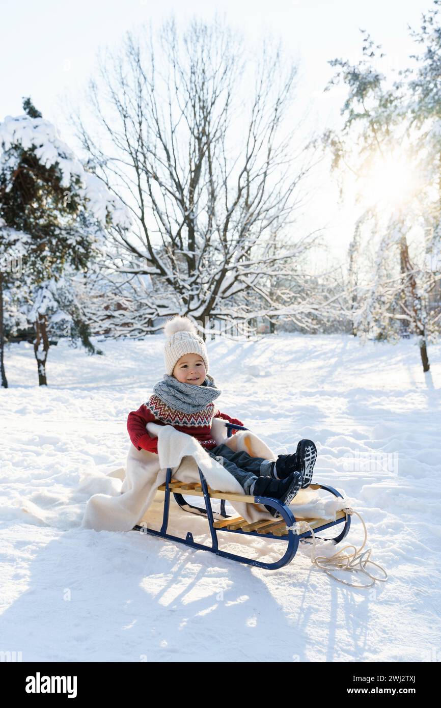
[[[413,341],[208,343],[219,408],[275,452],[316,440],[314,481],[345,491],[364,518],[389,580],[358,590],[311,566],[304,544],[265,571],[137,532],[79,528],[79,485],[124,466],[127,413],[162,377],[163,343],[105,341],[105,355],[91,357],[60,342],[47,389],[32,348],[8,348],[0,651],[23,661],[441,661],[441,345],[430,346],[424,377]],[[158,513],[155,503],[152,525]],[[205,523],[176,507],[170,530],[209,540]],[[233,552],[268,559],[284,543],[224,537]],[[343,544],[361,541],[353,518]]]

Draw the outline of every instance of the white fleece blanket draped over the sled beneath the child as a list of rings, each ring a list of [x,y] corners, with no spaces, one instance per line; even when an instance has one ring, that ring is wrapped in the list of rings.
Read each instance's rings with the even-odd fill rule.
[[[144,517],[156,489],[166,481],[167,467],[172,468],[174,479],[198,482],[199,466],[212,489],[244,494],[244,489],[234,476],[210,457],[191,435],[181,433],[172,426],[158,426],[155,423],[147,423],[147,432],[157,435],[158,454],[137,450],[131,444],[126,468],[103,475],[103,492],[106,493],[96,493],[88,499],[82,527],[96,531],[132,530]],[[245,450],[252,457],[277,459],[265,442],[248,430],[239,430],[227,438],[227,428],[220,418],[212,421],[212,436],[218,445],[224,443],[234,451]],[[199,503],[197,497],[194,499]],[[323,500],[316,492],[306,489],[292,501],[292,511],[296,518],[335,518],[336,510],[346,504],[335,497]],[[231,502],[231,505],[249,522],[272,518],[265,507],[257,504]]]

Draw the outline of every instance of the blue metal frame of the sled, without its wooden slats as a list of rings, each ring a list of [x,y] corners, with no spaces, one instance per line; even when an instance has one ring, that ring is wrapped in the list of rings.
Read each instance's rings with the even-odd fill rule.
[[[236,430],[248,430],[248,428],[244,428],[244,426],[236,426],[234,423],[227,423],[227,428],[228,428],[228,437],[231,436],[231,430],[235,428]],[[292,510],[289,506],[285,506],[285,504],[280,503],[280,501],[277,501],[277,499],[269,498],[269,497],[263,497],[263,496],[256,496],[253,497],[253,503],[256,504],[265,504],[265,506],[271,506],[280,513],[282,519],[285,521],[285,525],[287,527],[287,533],[285,535],[275,535],[274,533],[267,532],[267,533],[260,533],[258,530],[250,530],[250,531],[244,531],[241,530],[241,528],[237,529],[230,529],[227,527],[224,528],[217,528],[214,526],[214,512],[212,510],[212,505],[210,501],[210,494],[207,486],[207,481],[205,479],[205,476],[202,474],[201,470],[199,470],[199,476],[200,476],[200,484],[202,487],[202,493],[203,493],[203,498],[205,501],[205,509],[201,509],[199,507],[192,506],[188,502],[185,501],[181,493],[173,493],[173,489],[171,489],[170,484],[171,484],[171,469],[167,469],[166,473],[166,483],[165,483],[165,489],[164,489],[164,514],[163,514],[163,520],[162,520],[162,525],[161,525],[161,530],[157,531],[155,529],[151,529],[148,527],[143,526],[134,526],[133,530],[134,531],[139,531],[139,532],[144,532],[144,533],[149,533],[154,536],[158,536],[160,538],[166,538],[170,541],[177,541],[178,543],[183,543],[186,546],[190,546],[191,548],[197,548],[202,551],[211,551],[212,553],[215,553],[217,556],[222,556],[223,558],[229,558],[233,561],[239,561],[240,563],[247,563],[248,565],[251,566],[256,566],[258,568],[265,568],[267,570],[275,570],[277,568],[282,568],[282,566],[285,566],[287,563],[290,563],[292,559],[294,558],[295,554],[297,553],[297,549],[299,547],[299,542],[300,539],[307,539],[308,537],[311,537],[311,532],[310,531],[305,531],[304,533],[296,533],[294,530],[290,529],[289,527],[294,525],[296,523],[296,519],[294,518],[294,515],[292,513]],[[185,484],[182,482],[181,484]],[[311,486],[314,487],[314,489],[326,489],[326,491],[330,492],[334,496],[338,496],[340,498],[343,498],[342,495],[336,490],[333,489],[331,486],[327,486],[325,484],[312,484]],[[168,527],[168,513],[169,513],[169,508],[170,508],[170,495],[173,493],[173,496],[176,498],[176,501],[178,502],[178,505],[181,506],[181,508],[185,507],[185,510],[190,511],[191,513],[197,513],[198,515],[206,515],[208,524],[210,527],[210,534],[211,534],[211,539],[212,539],[212,545],[211,546],[205,546],[200,543],[196,543],[193,540],[193,535],[190,531],[188,531],[187,535],[185,538],[181,538],[178,536],[173,536],[169,533],[167,533],[167,527]],[[214,496],[214,498],[216,498]],[[251,502],[250,502],[251,503]],[[219,518],[219,514],[216,514],[217,518]],[[225,513],[225,500],[221,500],[221,512],[220,512],[220,518],[225,518],[228,519],[227,514]],[[280,519],[279,519],[280,520]],[[300,519],[302,521],[302,519]],[[277,523],[277,520],[274,520],[274,523]],[[316,535],[317,538],[322,538],[320,536],[317,536],[317,532],[321,532],[325,529],[330,528],[331,526],[336,526],[337,524],[344,523],[343,530],[340,532],[340,534],[336,537],[333,538],[333,542],[335,544],[340,543],[346,535],[348,535],[348,531],[350,529],[350,515],[345,513],[345,515],[342,518],[338,518],[336,521],[331,521],[328,523],[323,523],[322,525],[319,525],[318,527],[314,527],[314,535]],[[231,518],[231,525],[234,526],[234,518]],[[219,543],[218,543],[218,538],[217,538],[217,533],[219,531],[226,532],[226,533],[237,533],[241,534],[243,536],[254,536],[254,537],[260,537],[260,538],[265,538],[265,539],[274,539],[277,541],[284,541],[287,543],[287,546],[285,548],[285,553],[283,554],[282,558],[280,560],[275,561],[274,563],[265,563],[263,561],[255,561],[251,558],[246,558],[245,556],[239,556],[234,553],[228,553],[227,551],[222,551],[219,549]],[[325,539],[328,540],[328,539]]]

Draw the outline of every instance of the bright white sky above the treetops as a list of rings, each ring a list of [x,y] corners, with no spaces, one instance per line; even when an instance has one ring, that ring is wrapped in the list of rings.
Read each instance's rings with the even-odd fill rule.
[[[248,38],[262,33],[282,38],[299,59],[299,113],[311,110],[311,127],[338,122],[344,92],[323,94],[333,70],[326,62],[360,58],[360,28],[382,45],[389,67],[407,65],[415,51],[408,25],[420,27],[430,0],[0,0],[0,120],[23,113],[22,97],[31,96],[43,116],[59,127],[77,149],[64,115],[64,96],[76,103],[93,75],[98,47],[114,47],[125,30],[151,19],[155,24],[174,11],[184,21],[193,14],[210,18],[217,9]],[[385,66],[385,69],[387,64]],[[355,210],[337,203],[327,174],[318,174],[307,219],[326,226],[336,258],[344,258]]]

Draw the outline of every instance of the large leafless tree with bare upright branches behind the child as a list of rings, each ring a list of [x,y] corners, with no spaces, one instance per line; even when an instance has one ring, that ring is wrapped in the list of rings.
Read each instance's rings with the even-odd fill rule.
[[[258,59],[244,56],[218,19],[178,33],[171,18],[156,38],[151,28],[127,33],[89,86],[96,129],[80,113],[74,120],[96,174],[134,217],[130,236],[113,228],[115,268],[159,280],[181,314],[202,323],[255,317],[231,298],[265,295],[268,275],[289,274],[312,240],[292,236],[299,184],[314,164],[307,143],[294,144],[297,67],[266,42]]]

